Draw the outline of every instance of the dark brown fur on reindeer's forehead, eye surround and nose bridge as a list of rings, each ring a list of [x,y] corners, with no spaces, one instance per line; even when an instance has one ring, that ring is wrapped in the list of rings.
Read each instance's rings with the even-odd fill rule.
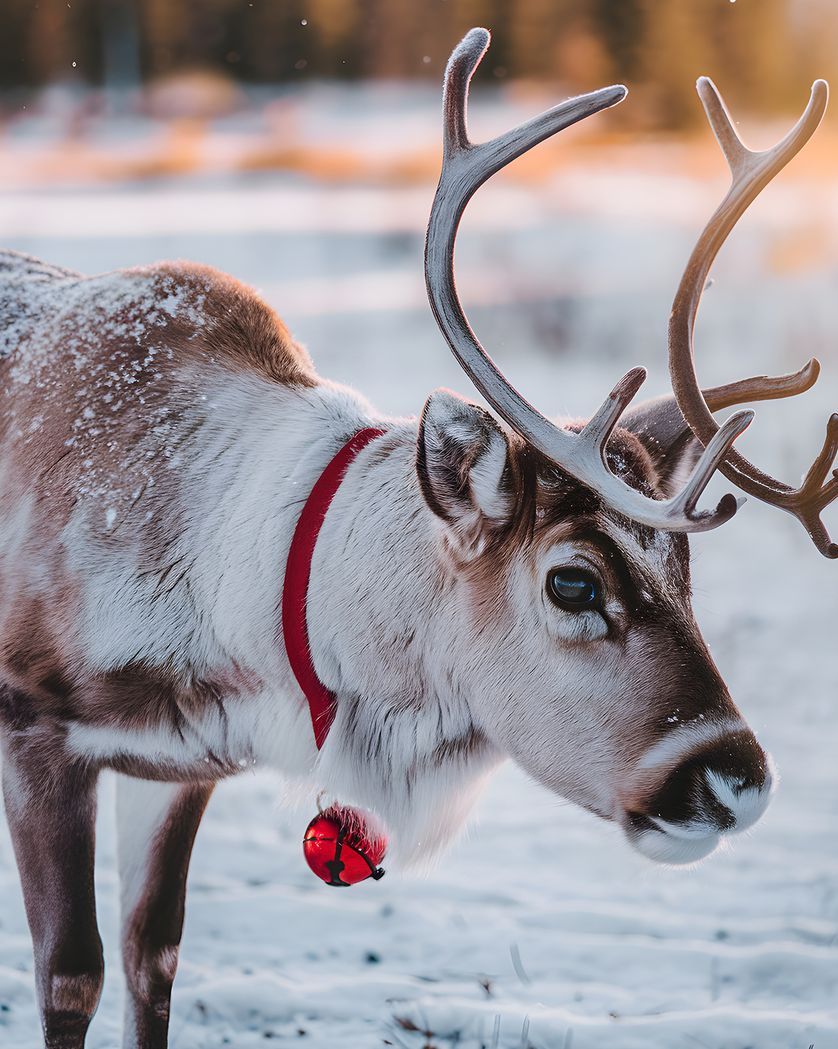
[[[515,559],[523,554],[535,565],[541,551],[574,541],[589,548],[606,590],[618,595],[625,608],[624,617],[609,620],[609,643],[622,647],[622,664],[637,681],[637,695],[654,682],[654,693],[640,705],[642,714],[632,738],[623,741],[626,768],[649,740],[671,728],[659,712],[660,694],[678,706],[685,721],[700,714],[710,719],[736,715],[693,617],[687,537],[673,533],[664,539],[654,530],[626,520],[517,435],[509,437],[509,446],[506,480],[514,493],[513,513],[490,536],[478,557],[458,564],[469,580],[475,627],[500,636],[506,630],[512,613],[502,580]],[[665,497],[665,481],[635,434],[616,430],[608,461],[632,487],[651,497]],[[664,555],[665,581],[658,571],[647,571],[636,555],[623,553],[623,536],[630,536],[642,549],[656,544],[658,555]],[[670,709],[668,704],[666,712]]]

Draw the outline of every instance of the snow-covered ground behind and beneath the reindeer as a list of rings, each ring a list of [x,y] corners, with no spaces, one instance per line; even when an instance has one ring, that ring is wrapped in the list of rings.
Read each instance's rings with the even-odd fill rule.
[[[461,237],[464,297],[544,410],[590,410],[637,363],[650,366],[650,392],[665,388],[669,299],[721,186],[604,164],[482,191]],[[431,189],[265,175],[18,191],[0,196],[0,241],[86,271],[165,256],[222,266],[263,290],[323,374],[415,413],[434,386],[471,392],[424,304]],[[838,408],[838,195],[792,181],[767,197],[717,267],[701,371],[723,381],[820,356],[819,387],[760,406],[742,445],[792,479]],[[752,833],[695,869],[662,870],[507,768],[432,873],[334,893],[302,860],[314,799],[283,808],[278,783],[244,774],[217,791],[198,836],[173,1049],[838,1046],[838,565],[753,501],[693,547],[700,621],[781,773]],[[112,788],[92,1049],[117,1046],[121,1016]],[[0,901],[0,1046],[36,1049],[4,827]]]

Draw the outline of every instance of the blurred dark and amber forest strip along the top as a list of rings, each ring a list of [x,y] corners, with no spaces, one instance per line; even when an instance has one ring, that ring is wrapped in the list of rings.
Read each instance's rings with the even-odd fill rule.
[[[838,63],[834,0],[2,0],[0,89],[114,84],[121,66],[128,81],[196,67],[253,82],[435,78],[470,25],[494,34],[481,78],[624,80],[664,127],[701,119],[701,72],[737,106],[776,112]]]

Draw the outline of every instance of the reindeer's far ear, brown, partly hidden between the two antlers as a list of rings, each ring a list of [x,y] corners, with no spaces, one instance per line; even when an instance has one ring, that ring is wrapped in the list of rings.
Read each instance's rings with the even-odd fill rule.
[[[620,426],[643,442],[658,471],[661,492],[670,498],[686,484],[704,451],[671,393],[629,408]]]

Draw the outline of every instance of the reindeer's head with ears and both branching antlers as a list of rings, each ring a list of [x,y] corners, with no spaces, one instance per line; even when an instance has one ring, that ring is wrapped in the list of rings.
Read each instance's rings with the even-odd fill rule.
[[[711,415],[808,389],[817,362],[793,376],[705,391],[692,363],[692,326],[710,262],[747,204],[817,127],[825,85],[815,85],[805,113],[779,146],[753,154],[735,137],[710,82],[700,82],[733,187],[675,300],[670,347],[678,401],[628,408],[645,376],[636,368],[589,422],[556,425],[514,389],[472,331],[454,284],[456,230],[471,195],[493,173],[620,102],[625,89],[572,99],[474,144],[466,126],[468,89],[488,43],[485,29],[472,29],[446,72],[444,162],[426,280],[451,349],[509,429],[447,391],[434,393],[422,416],[416,470],[449,578],[438,598],[447,637],[439,637],[434,658],[498,749],[557,793],[618,820],[641,852],[687,862],[712,851],[725,832],[753,823],[772,787],[770,761],[734,706],[690,606],[687,533],[722,524],[737,500],[727,495],[710,511],[699,510],[697,500],[719,469],[796,514],[824,554],[838,555],[819,519],[838,495],[838,480],[826,480],[838,416],[803,486],[792,490],[731,451],[751,412],[736,412],[721,428]]]

